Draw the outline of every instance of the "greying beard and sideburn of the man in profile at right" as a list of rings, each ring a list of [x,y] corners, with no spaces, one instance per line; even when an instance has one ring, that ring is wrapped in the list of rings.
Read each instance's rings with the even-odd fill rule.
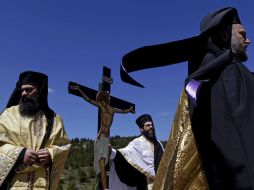
[[[232,35],[231,48],[233,53],[233,58],[236,61],[244,62],[248,59],[248,54],[246,52],[247,45],[242,44],[239,39]]]

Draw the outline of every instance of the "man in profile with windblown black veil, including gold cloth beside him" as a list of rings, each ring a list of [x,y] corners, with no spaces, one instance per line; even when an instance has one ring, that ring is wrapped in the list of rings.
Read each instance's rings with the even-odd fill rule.
[[[158,175],[154,189],[177,189],[179,183],[185,183],[181,184],[182,189],[254,189],[254,76],[242,63],[248,59],[246,48],[250,40],[237,10],[232,7],[205,16],[200,29],[198,36],[142,47],[123,58],[123,81],[141,87],[128,72],[183,61],[189,63],[183,92],[188,94],[188,103],[180,102],[179,105],[186,109],[178,107],[177,114],[181,109],[187,110],[186,120],[189,117],[190,122],[186,123],[191,125],[194,135],[190,140],[195,141],[193,147],[198,156],[193,156],[182,168],[186,170],[194,163],[193,158],[199,160],[200,164],[192,171],[201,171],[197,177],[202,176],[203,183],[200,184],[205,185],[191,186],[192,182],[181,179],[185,170],[176,170],[179,160],[175,155],[183,151],[182,147],[167,145],[161,162],[163,167],[158,171],[163,175]],[[180,126],[182,123],[174,123],[171,140],[174,140],[171,137],[176,134],[175,129],[183,127]],[[177,145],[188,144],[181,135],[177,137],[179,141],[175,141]]]

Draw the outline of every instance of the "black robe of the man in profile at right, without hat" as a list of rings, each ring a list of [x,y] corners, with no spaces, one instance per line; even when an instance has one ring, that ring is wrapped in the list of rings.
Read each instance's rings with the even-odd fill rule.
[[[190,106],[210,189],[254,189],[254,75],[209,42],[191,78],[206,81]]]

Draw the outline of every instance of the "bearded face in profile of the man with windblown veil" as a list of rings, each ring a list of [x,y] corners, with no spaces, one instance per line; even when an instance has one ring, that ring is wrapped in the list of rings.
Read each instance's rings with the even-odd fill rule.
[[[231,49],[234,59],[246,61],[248,59],[247,47],[250,40],[247,38],[246,31],[241,24],[232,25]]]

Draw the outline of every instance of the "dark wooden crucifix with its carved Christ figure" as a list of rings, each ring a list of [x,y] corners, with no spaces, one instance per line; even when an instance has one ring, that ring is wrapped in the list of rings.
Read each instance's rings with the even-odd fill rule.
[[[70,94],[82,97],[87,102],[99,108],[98,134],[94,146],[94,168],[96,173],[100,173],[103,190],[107,189],[108,186],[105,166],[108,163],[110,127],[114,114],[135,113],[134,104],[109,95],[112,82],[111,70],[103,67],[103,76],[102,82],[99,85],[99,91],[74,82],[69,82],[68,85]]]

